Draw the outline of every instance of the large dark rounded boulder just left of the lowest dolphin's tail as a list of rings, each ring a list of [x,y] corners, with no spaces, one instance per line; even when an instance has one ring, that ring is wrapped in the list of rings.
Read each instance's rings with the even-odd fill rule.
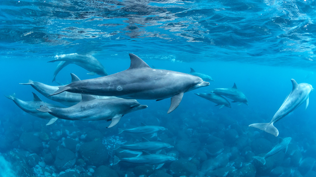
[[[100,141],[91,141],[83,143],[80,146],[79,152],[82,159],[89,165],[100,166],[108,160],[108,152],[106,146]]]

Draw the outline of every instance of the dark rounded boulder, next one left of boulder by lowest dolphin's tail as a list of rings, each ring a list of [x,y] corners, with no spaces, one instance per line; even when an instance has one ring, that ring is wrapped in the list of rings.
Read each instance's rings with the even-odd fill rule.
[[[69,149],[63,148],[57,151],[55,167],[59,170],[71,168],[76,163],[76,155]]]

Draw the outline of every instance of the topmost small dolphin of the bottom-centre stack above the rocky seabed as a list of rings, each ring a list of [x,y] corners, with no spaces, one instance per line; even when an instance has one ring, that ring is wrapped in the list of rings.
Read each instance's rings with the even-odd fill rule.
[[[153,134],[150,138],[157,136],[157,132],[162,130],[167,130],[167,128],[161,127],[161,126],[155,126],[155,125],[146,125],[144,123],[141,123],[142,126],[136,127],[136,128],[130,128],[130,129],[119,129],[119,134],[122,132],[127,133],[144,133],[144,134]]]

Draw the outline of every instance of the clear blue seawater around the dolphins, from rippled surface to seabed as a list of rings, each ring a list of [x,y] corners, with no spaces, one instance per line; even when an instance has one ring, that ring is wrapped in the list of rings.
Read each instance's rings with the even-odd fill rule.
[[[31,79],[58,85],[51,82],[58,63],[47,61],[56,55],[72,53],[92,54],[109,74],[127,69],[130,66],[128,54],[133,53],[149,66],[184,73],[191,67],[215,80],[207,87],[185,93],[179,107],[170,114],[167,114],[170,99],[137,100],[148,108],[125,115],[115,127],[108,129],[109,123],[105,121],[58,120],[46,126],[48,120],[27,114],[2,96],[0,176],[66,176],[71,171],[77,176],[88,173],[98,176],[95,173],[101,165],[112,169],[108,170],[112,173],[107,172],[108,176],[120,177],[315,176],[315,93],[310,94],[306,110],[304,102],[275,123],[278,137],[248,127],[252,123],[270,122],[291,92],[290,79],[315,87],[315,7],[312,0],[0,1],[0,91],[4,95],[15,93],[16,98],[31,101],[34,92],[44,102],[58,104],[31,86],[18,83]],[[71,64],[58,73],[56,80],[67,84],[71,81],[70,73],[82,80],[99,77],[87,75],[88,72]],[[234,83],[246,95],[249,106],[231,103],[232,108],[219,109],[215,103],[193,94],[230,88]],[[141,122],[168,130],[154,138],[118,134],[118,128],[135,128]],[[72,128],[76,134],[67,133]],[[113,151],[111,146],[104,152],[108,154],[104,161],[86,160],[80,170],[78,159],[84,157],[80,150],[73,149],[76,164],[58,169],[54,152],[58,149],[52,150],[51,140],[57,142],[58,148],[67,149],[63,142],[68,137],[79,147],[90,142],[81,135],[87,136],[95,130],[102,134],[99,141],[106,147],[112,139],[133,144],[142,136],[150,141],[173,142],[173,148],[161,153],[177,154],[179,160],[142,174],[140,168],[153,166],[112,165],[114,155],[120,158],[133,155]],[[56,137],[57,131],[61,133]],[[40,137],[41,132],[46,132],[49,138],[39,140],[42,146],[38,151],[22,145],[21,140],[25,138],[22,134]],[[237,132],[238,137],[231,137],[231,132]],[[264,156],[278,144],[279,137],[292,137],[288,151],[282,150],[267,158],[265,165],[251,158]],[[221,142],[224,150],[208,154],[207,148],[216,149],[212,147],[214,142]],[[34,153],[40,158],[36,163],[30,162],[30,155]],[[227,156],[227,162],[218,160],[221,153]],[[52,159],[47,160],[47,154],[52,155]],[[214,165],[217,161],[221,165]],[[39,162],[45,164],[40,163],[39,167]],[[205,172],[206,164],[214,168]]]

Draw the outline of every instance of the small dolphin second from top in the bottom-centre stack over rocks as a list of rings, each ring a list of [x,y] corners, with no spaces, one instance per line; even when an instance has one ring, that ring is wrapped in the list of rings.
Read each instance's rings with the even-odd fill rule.
[[[173,147],[168,143],[159,142],[159,141],[149,141],[146,138],[142,137],[142,142],[132,144],[132,145],[120,145],[115,147],[115,149],[122,148],[134,151],[157,151],[156,153],[159,154],[162,149]],[[114,150],[115,150],[114,149]]]

